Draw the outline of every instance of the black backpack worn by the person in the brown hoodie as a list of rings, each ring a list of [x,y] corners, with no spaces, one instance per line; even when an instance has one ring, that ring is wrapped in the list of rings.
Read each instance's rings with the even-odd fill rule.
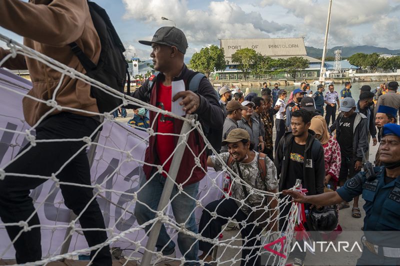
[[[128,64],[123,52],[125,48],[107,13],[96,3],[87,1],[93,25],[97,31],[101,43],[101,52],[98,64],[95,65],[76,44],[69,43],[72,52],[77,56],[80,63],[86,70],[86,75],[105,84],[109,87],[124,93],[127,75],[127,91],[129,95],[130,76]],[[96,87],[91,87],[90,94],[97,101],[100,113],[109,112],[122,104],[122,99],[104,92]]]

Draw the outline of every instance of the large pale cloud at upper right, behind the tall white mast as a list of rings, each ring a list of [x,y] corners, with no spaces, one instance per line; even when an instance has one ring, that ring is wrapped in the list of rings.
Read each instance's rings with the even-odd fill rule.
[[[399,48],[398,18],[400,0],[332,1],[328,46],[378,45]],[[305,32],[306,45],[323,46],[328,0],[259,0],[262,7],[278,5],[298,18],[296,32]],[[395,22],[397,21],[397,24]],[[397,31],[393,32],[393,28]],[[379,36],[394,33],[396,40],[387,43]]]

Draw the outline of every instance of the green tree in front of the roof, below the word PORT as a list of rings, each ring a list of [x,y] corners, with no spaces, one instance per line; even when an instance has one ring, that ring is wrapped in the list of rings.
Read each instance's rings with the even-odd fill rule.
[[[237,69],[243,72],[244,80],[248,73],[254,71],[260,60],[260,54],[250,48],[242,48],[232,54],[232,62],[237,63]]]

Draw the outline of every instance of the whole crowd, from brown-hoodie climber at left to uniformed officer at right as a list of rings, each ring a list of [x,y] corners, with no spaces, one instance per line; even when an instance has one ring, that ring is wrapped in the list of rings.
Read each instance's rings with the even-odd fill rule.
[[[27,46],[86,73],[69,46],[74,42],[84,48],[93,64],[98,63],[101,44],[86,0],[3,1],[2,5],[0,25],[24,36]],[[170,197],[176,224],[191,232],[187,234],[181,230],[177,234],[184,265],[199,265],[199,250],[201,259],[209,265],[214,245],[194,236],[200,234],[216,239],[221,227],[231,220],[238,222],[245,247],[241,250],[240,265],[260,265],[259,252],[251,249],[260,244],[260,232],[263,229],[284,232],[292,221],[287,219],[289,205],[278,206],[276,198],[252,193],[252,189],[283,192],[311,211],[334,204],[344,209],[353,201],[351,214],[354,218],[361,217],[358,197],[362,194],[366,213],[363,230],[400,230],[400,126],[396,124],[400,95],[396,94],[397,82],[388,82],[376,92],[371,92],[369,86],[362,86],[358,102],[351,96],[350,82],[344,84],[340,96],[333,85],[328,86],[329,91],[324,95],[324,86],[317,86],[313,93],[309,84],[302,83],[285,102],[288,92],[280,89],[277,83],[272,90],[264,83],[260,96],[249,88],[243,94],[238,88],[233,91],[222,87],[218,98],[211,83],[202,76],[195,90],[186,88],[172,97],[172,81],[183,80],[188,84],[195,74],[184,64],[188,47],[184,33],[176,27],[161,27],[151,40],[139,42],[151,46],[150,57],[158,75],[147,79],[130,96],[166,111],[171,111],[172,102],[179,100],[186,114],[197,115],[207,139],[219,141],[222,148],[218,156],[239,177],[230,177],[231,196],[215,199],[205,206],[197,227],[194,209],[199,181],[206,174],[204,169],[208,166],[221,171],[225,165],[217,160],[216,154],[207,156],[200,133],[190,131]],[[11,53],[0,47],[0,59]],[[90,84],[52,71],[34,58],[14,55],[2,67],[29,70],[33,87],[28,93],[30,97],[24,98],[22,108],[30,126],[38,123],[35,139],[41,140],[21,149],[23,153],[3,169],[0,181],[0,217],[7,224],[16,262],[41,260],[39,219],[29,193],[47,180],[35,177],[53,177],[56,173],[54,178],[63,182],[60,189],[64,204],[78,215],[88,246],[99,247],[90,252],[92,264],[110,266],[111,254],[105,245],[107,231],[99,205],[93,198],[93,187],[89,186],[85,142],[72,141],[95,137],[93,133],[99,130],[101,123],[99,102],[90,93]],[[46,104],[55,88],[55,100],[66,109],[50,111],[51,107]],[[133,108],[135,116],[129,124],[144,129],[151,126],[155,132],[148,139],[143,164],[145,178],[140,180],[134,210],[137,223],[146,225],[144,230],[148,232],[152,227],[148,222],[156,216],[183,121],[155,111],[149,111],[147,117],[142,107]],[[336,109],[340,111],[337,117]],[[121,115],[126,115],[122,109]],[[273,126],[276,129],[274,142]],[[374,157],[376,167],[369,169],[370,172],[361,171],[362,162],[365,165],[368,160],[370,138],[372,145],[380,141]],[[63,139],[67,141],[57,141]],[[308,191],[306,196],[289,190],[297,180]],[[324,193],[325,188],[330,188],[331,192]],[[330,230],[337,228],[336,223]],[[358,264],[399,264],[400,247],[398,241],[391,240],[390,236],[378,239],[365,234]],[[151,264],[175,258],[175,243],[164,225],[155,248],[163,256],[154,255]],[[303,265],[304,260],[304,251],[294,251],[293,266]]]

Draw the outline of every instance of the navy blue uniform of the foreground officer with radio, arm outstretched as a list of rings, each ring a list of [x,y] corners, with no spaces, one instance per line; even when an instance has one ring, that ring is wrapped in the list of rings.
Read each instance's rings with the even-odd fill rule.
[[[336,192],[346,202],[362,194],[365,200],[364,236],[369,243],[379,247],[400,248],[400,232],[393,232],[400,231],[400,177],[385,185],[384,167],[375,167],[374,170],[377,175],[374,180],[367,181],[365,173],[359,172]],[[383,252],[379,248],[379,255],[375,255],[364,247],[357,265],[400,264],[400,258],[384,257]]]

